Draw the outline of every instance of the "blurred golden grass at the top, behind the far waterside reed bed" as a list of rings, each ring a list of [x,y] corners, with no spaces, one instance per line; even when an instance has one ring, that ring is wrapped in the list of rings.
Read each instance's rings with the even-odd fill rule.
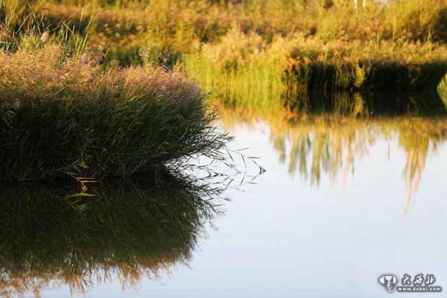
[[[216,43],[237,23],[247,34],[255,32],[265,43],[294,32],[322,41],[445,42],[446,0],[394,0],[366,7],[353,1],[74,1],[3,0],[0,13],[20,24],[27,14],[43,15],[52,25],[70,20],[84,34],[89,19],[91,41],[109,45],[109,57],[138,63],[138,50],[150,43],[154,61],[159,52],[175,59]],[[1,10],[1,9],[0,9]],[[13,15],[13,17],[11,17]],[[299,17],[297,17],[299,16]],[[14,27],[14,26],[13,26]],[[225,58],[225,57],[224,57]]]

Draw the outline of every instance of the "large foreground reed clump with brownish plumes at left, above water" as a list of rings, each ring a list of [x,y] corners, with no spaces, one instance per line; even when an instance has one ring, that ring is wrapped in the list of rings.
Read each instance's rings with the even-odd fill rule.
[[[0,180],[124,176],[225,147],[208,94],[186,72],[103,70],[100,50],[64,53],[0,52]]]

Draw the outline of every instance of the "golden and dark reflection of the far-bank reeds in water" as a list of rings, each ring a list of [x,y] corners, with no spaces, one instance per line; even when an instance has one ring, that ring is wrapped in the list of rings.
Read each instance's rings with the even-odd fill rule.
[[[415,199],[427,156],[447,140],[446,106],[437,94],[393,98],[347,93],[290,96],[259,89],[239,92],[230,90],[218,99],[223,126],[231,130],[241,123],[267,123],[272,145],[291,175],[318,186],[326,173],[332,183],[340,180],[342,195],[356,162],[378,139],[389,147],[397,141],[406,155],[404,214]]]

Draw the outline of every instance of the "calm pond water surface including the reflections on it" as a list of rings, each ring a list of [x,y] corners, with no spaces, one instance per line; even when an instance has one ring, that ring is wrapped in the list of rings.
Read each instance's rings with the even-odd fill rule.
[[[401,286],[405,274],[411,281],[423,274],[443,287],[424,297],[444,297],[446,118],[296,113],[264,103],[219,103],[220,124],[236,137],[230,149],[248,147],[241,152],[266,169],[244,183],[259,168],[233,153],[248,173],[223,193],[228,202],[202,204],[218,194],[175,178],[155,188],[92,187],[99,195],[88,208],[91,198],[53,207],[48,196],[33,198],[47,186],[3,188],[10,217],[3,216],[1,276],[58,277],[42,297],[69,297],[65,281],[81,279],[91,286],[74,297],[389,297],[382,275]]]

